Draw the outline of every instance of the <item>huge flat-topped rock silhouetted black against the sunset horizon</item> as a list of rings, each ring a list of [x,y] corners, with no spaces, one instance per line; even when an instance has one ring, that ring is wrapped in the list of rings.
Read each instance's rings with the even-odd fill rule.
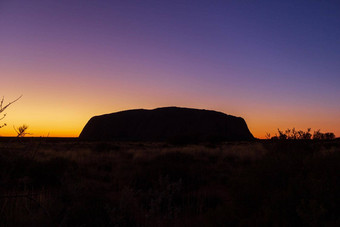
[[[92,117],[79,138],[106,141],[252,140],[246,122],[221,112],[179,107],[135,109]]]

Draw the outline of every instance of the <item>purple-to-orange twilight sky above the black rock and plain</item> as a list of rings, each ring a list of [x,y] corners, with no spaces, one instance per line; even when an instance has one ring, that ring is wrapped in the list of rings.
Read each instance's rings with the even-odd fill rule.
[[[0,135],[180,106],[340,136],[339,61],[339,1],[0,0]]]

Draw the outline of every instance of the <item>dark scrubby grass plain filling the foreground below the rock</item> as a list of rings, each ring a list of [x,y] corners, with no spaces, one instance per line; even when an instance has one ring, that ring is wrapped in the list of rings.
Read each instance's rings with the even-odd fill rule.
[[[340,142],[0,138],[1,226],[339,226]]]

